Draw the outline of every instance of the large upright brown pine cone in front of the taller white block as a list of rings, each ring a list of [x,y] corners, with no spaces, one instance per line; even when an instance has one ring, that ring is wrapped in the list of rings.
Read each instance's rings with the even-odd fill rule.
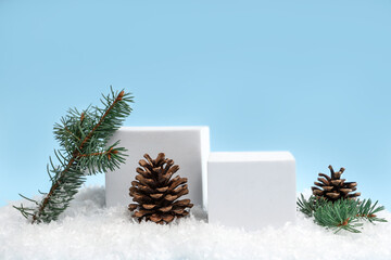
[[[169,223],[175,218],[189,214],[186,208],[191,208],[190,199],[176,200],[189,193],[187,178],[179,176],[171,179],[179,170],[179,166],[174,165],[174,160],[165,158],[160,153],[156,159],[152,159],[148,154],[143,156],[136,171],[137,181],[131,182],[129,195],[137,204],[129,204],[129,210],[135,211],[133,217],[139,221],[146,219],[159,224]]]

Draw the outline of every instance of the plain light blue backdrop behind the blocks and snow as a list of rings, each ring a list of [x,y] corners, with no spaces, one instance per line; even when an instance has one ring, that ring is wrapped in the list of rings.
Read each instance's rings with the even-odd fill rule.
[[[386,0],[0,0],[0,206],[49,190],[53,123],[112,84],[136,96],[127,126],[290,151],[298,191],[343,166],[390,209],[390,47]]]

